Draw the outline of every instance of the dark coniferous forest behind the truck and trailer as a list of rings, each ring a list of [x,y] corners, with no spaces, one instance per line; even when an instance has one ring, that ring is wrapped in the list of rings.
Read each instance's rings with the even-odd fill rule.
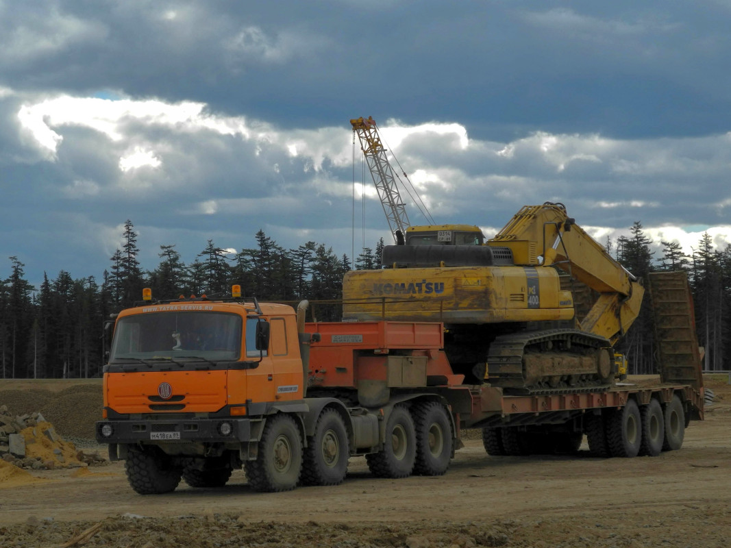
[[[705,346],[705,370],[729,370],[725,335],[731,329],[731,246],[713,248],[702,236],[692,256],[675,242],[660,242],[660,253],[640,222],[629,237],[607,240],[610,253],[630,272],[645,278],[658,270],[686,270],[695,303],[700,346]],[[159,264],[144,270],[137,261],[137,233],[126,221],[121,248],[110,257],[103,278],[74,279],[61,270],[55,278],[43,277],[39,287],[26,281],[23,263],[10,257],[10,275],[0,285],[0,367],[2,378],[84,378],[101,375],[109,334],[110,314],[139,301],[144,287],[155,298],[178,295],[229,294],[238,283],[246,297],[261,301],[317,303],[319,321],[337,321],[340,309],[328,301],[341,299],[341,281],[351,268],[349,257],[337,256],[322,243],[306,242],[285,249],[260,230],[256,247],[244,248],[230,259],[213,240],[192,262],[184,262],[175,244],[161,245]],[[379,268],[383,240],[363,248],[355,268]],[[1,270],[0,270],[1,272]],[[654,373],[652,325],[647,307],[618,349],[629,357],[630,373]]]

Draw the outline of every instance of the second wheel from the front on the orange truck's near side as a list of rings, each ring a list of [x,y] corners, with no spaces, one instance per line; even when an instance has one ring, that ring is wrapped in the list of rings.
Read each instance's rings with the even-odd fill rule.
[[[334,409],[317,419],[315,433],[307,438],[301,482],[303,485],[337,485],[348,471],[348,432]]]

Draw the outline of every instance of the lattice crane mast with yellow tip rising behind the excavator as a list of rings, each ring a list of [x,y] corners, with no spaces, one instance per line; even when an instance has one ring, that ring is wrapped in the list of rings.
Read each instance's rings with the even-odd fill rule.
[[[366,156],[368,170],[376,185],[383,213],[385,213],[391,234],[396,241],[398,240],[397,231],[400,231],[402,235],[406,234],[406,229],[410,225],[409,216],[406,215],[404,201],[398,192],[393,168],[386,156],[386,149],[381,144],[376,121],[368,116],[368,119],[355,118],[350,123],[353,126],[353,132],[360,140],[360,150]]]

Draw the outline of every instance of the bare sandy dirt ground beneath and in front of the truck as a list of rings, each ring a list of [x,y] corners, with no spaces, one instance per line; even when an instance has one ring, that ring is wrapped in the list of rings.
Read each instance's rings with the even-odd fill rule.
[[[659,457],[490,457],[467,440],[436,478],[374,479],[351,460],[337,487],[262,494],[226,487],[133,492],[124,465],[33,471],[3,481],[0,546],[729,547],[731,387],[683,449]]]

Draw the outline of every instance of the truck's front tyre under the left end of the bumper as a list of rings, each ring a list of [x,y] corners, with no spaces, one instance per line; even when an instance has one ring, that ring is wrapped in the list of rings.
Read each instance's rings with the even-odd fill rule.
[[[171,492],[181,482],[181,469],[157,447],[130,447],[124,471],[132,489],[140,495],[161,495]]]

